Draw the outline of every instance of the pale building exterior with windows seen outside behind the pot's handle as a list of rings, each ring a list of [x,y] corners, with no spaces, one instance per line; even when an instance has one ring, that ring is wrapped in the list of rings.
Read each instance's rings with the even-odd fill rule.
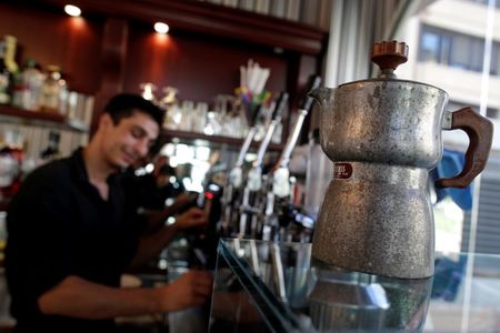
[[[470,105],[494,124],[490,160],[480,186],[474,182],[479,190],[471,191],[479,199],[477,219],[474,208],[464,212],[459,248],[500,253],[500,1],[432,1],[408,21],[402,39],[410,56],[400,78],[439,87],[449,93],[449,111]],[[452,150],[468,147],[462,131],[444,132],[443,141]],[[439,242],[438,231],[438,249]]]

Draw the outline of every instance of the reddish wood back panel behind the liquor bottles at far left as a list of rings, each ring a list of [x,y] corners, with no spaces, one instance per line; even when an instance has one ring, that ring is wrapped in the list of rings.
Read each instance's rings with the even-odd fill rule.
[[[59,64],[69,88],[96,93],[100,85],[102,21],[70,18],[63,12],[0,3],[0,36],[18,39],[18,62],[33,58],[43,68]]]

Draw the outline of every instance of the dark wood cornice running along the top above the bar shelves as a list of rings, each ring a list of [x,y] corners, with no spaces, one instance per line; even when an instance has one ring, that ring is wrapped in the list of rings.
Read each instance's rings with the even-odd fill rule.
[[[43,2],[66,4],[66,0]],[[117,6],[117,3],[119,4]],[[308,54],[324,48],[326,31],[283,19],[194,0],[74,0],[84,11],[144,22],[166,20],[172,28],[246,40]]]

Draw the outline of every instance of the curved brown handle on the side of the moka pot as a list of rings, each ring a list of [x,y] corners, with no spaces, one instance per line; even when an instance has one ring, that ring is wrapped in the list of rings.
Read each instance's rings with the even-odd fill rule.
[[[474,112],[472,108],[467,107],[451,114],[451,130],[463,130],[469,137],[469,148],[462,172],[452,178],[438,179],[437,188],[468,186],[484,169],[493,140],[493,124],[487,118]]]

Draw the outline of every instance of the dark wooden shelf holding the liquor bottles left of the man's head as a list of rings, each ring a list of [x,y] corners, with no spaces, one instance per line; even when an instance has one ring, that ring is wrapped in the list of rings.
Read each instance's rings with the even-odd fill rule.
[[[67,119],[53,112],[29,111],[10,105],[0,105],[0,117],[6,121],[28,125],[58,128],[76,132],[88,132],[89,128],[82,122]]]

